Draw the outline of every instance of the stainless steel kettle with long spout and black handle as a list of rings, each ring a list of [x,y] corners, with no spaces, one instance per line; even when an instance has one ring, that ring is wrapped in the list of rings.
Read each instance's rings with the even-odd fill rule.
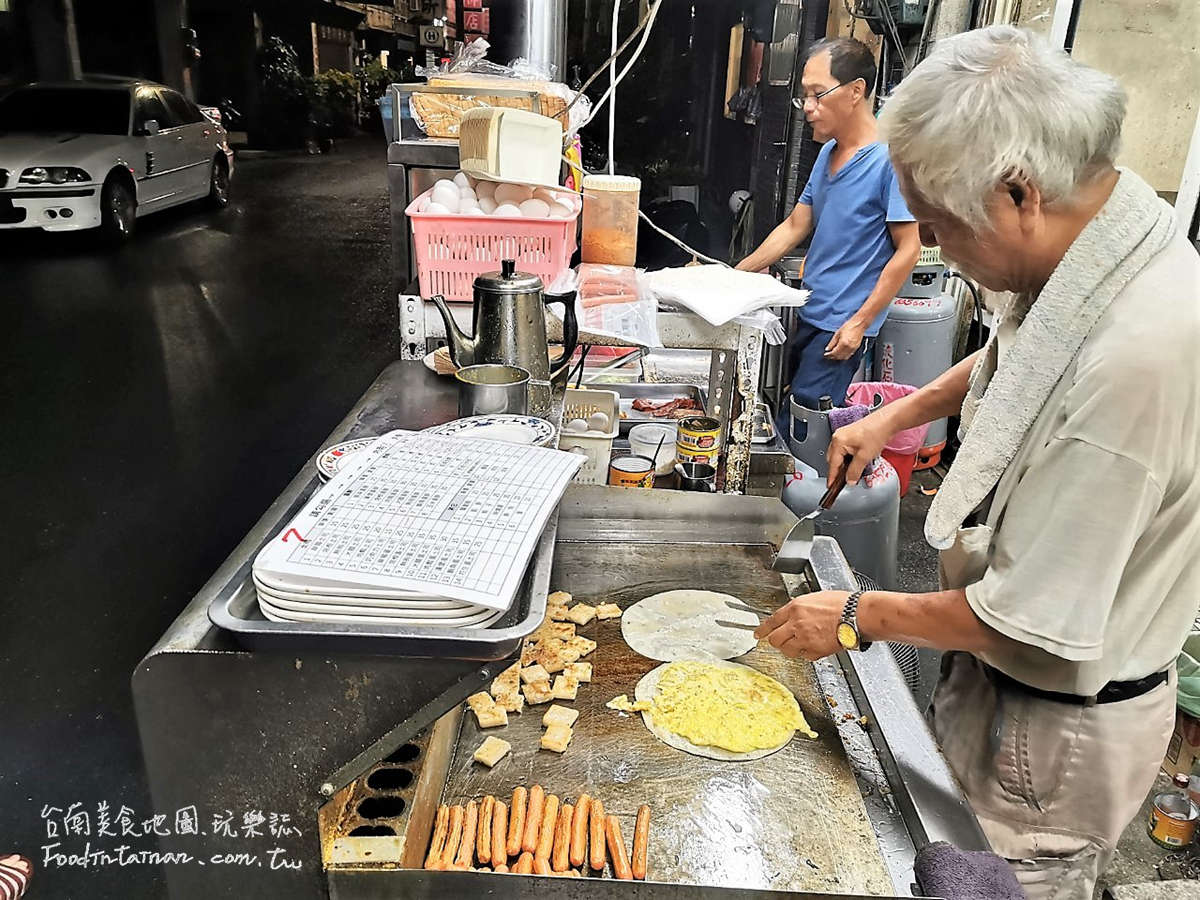
[[[500,271],[475,278],[474,293],[472,335],[464,335],[455,324],[444,298],[431,298],[445,322],[450,359],[456,366],[481,362],[520,366],[533,382],[551,382],[566,374],[580,336],[574,290],[547,294],[541,278],[518,272],[516,262],[505,259]],[[563,360],[553,371],[546,341],[547,304],[563,304]]]

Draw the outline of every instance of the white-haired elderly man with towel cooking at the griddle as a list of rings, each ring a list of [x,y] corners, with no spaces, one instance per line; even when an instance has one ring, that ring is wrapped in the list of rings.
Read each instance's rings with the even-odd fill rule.
[[[947,650],[930,712],[1031,898],[1088,900],[1154,782],[1200,604],[1200,258],[1115,166],[1124,94],[1040,38],[943,41],[880,121],[922,239],[1012,292],[988,346],[829,446],[857,481],[961,414],[925,522],[942,589],[796,598],[758,631],[818,659]]]

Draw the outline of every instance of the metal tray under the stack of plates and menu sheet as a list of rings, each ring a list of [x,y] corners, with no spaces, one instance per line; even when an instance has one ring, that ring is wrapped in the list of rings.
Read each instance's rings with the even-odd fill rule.
[[[271,622],[259,612],[258,594],[251,581],[254,553],[209,604],[209,620],[230,632],[242,647],[254,649],[322,649],[480,661],[504,659],[517,652],[521,640],[546,616],[557,533],[556,511],[541,533],[512,607],[490,628],[448,631],[402,625]],[[274,536],[274,532],[271,534]]]

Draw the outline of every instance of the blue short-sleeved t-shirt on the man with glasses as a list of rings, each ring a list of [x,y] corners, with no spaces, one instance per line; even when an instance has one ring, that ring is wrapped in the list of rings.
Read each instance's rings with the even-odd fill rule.
[[[817,155],[800,203],[812,208],[812,241],[804,262],[804,286],[812,292],[800,318],[822,331],[836,331],[866,301],[883,266],[895,253],[888,222],[912,222],[883,144],[868,144],[829,175],[836,140]],[[866,329],[880,332],[887,308]]]

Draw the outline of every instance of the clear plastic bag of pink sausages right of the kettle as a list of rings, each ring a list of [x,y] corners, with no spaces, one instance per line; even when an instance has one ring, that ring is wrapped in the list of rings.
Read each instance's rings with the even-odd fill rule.
[[[637,347],[661,347],[658,304],[641,287],[641,270],[622,265],[582,263],[568,269],[550,292],[577,292],[575,318],[580,334],[613,337]],[[548,306],[558,316],[558,307]]]

